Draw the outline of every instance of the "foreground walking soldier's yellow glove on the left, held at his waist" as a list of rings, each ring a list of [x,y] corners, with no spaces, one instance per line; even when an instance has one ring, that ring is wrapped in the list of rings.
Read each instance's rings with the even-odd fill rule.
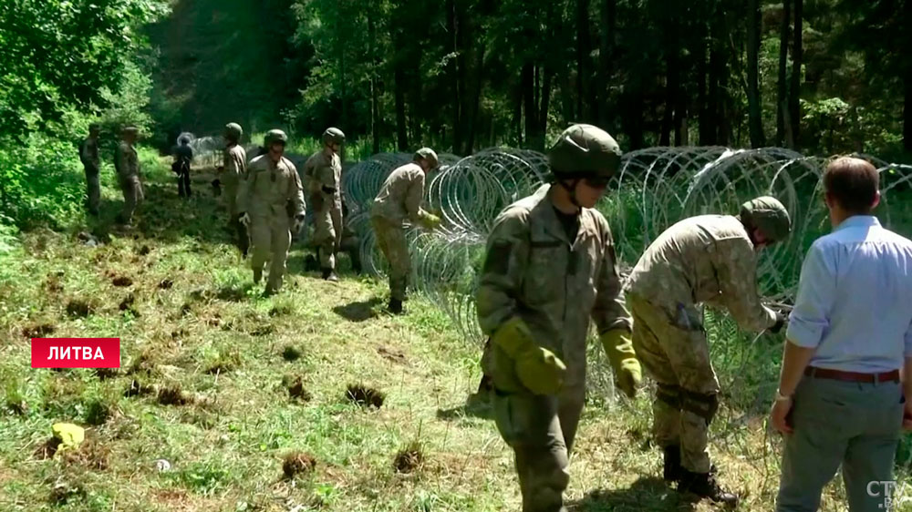
[[[513,372],[529,391],[556,394],[564,385],[564,363],[550,350],[535,344],[529,326],[519,318],[503,323],[491,341],[513,360]]]

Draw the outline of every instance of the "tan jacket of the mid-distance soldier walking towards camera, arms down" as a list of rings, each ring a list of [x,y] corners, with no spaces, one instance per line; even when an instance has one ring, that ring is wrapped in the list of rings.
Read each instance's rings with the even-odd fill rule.
[[[269,154],[250,160],[238,187],[237,210],[251,217],[304,215],[306,203],[295,164],[282,157],[275,163]]]

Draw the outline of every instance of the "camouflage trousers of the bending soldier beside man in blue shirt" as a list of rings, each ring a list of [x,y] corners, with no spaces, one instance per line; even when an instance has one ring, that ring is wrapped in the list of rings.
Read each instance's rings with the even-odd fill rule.
[[[658,384],[652,407],[656,442],[662,447],[679,445],[681,465],[706,473],[710,471],[708,431],[718,407],[719,381],[710,363],[706,332],[692,320],[699,314],[689,312],[689,322],[677,322],[637,297],[627,295],[627,305],[633,316],[637,359]]]

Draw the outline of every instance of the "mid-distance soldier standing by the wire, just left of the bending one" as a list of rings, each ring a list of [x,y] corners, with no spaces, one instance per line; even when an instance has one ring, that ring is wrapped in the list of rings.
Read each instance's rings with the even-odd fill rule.
[[[336,282],[336,252],[342,243],[342,160],[345,134],[338,128],[323,132],[323,149],[304,164],[307,199],[314,210],[314,239],[323,279]]]

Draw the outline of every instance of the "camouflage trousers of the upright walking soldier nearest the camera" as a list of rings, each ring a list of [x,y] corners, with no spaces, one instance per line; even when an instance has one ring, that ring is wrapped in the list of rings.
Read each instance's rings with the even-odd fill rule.
[[[513,448],[523,512],[561,512],[570,483],[570,450],[583,412],[585,390],[561,394],[492,391],[494,421]]]

